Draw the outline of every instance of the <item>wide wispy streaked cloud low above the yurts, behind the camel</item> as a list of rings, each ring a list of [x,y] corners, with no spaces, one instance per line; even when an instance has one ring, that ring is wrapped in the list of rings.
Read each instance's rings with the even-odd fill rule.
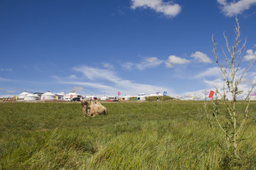
[[[152,59],[152,61],[154,61]],[[95,89],[97,93],[105,95],[116,94],[121,91],[122,94],[137,95],[139,93],[152,94],[156,91],[169,91],[171,89],[162,86],[153,86],[149,84],[139,84],[130,80],[117,77],[115,72],[106,69],[98,69],[88,66],[75,67],[75,71],[81,72],[89,80],[88,81],[59,81],[60,84],[73,84],[82,86],[84,89]],[[174,93],[171,93],[174,94]]]

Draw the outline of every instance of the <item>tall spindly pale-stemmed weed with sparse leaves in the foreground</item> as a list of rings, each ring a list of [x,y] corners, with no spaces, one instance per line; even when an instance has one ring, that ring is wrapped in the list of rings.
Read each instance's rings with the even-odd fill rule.
[[[230,47],[228,38],[225,36],[225,43],[228,55],[223,50],[225,62],[222,63],[220,55],[217,51],[217,43],[213,40],[213,55],[215,56],[216,63],[218,64],[221,77],[223,79],[223,87],[220,89],[215,86],[215,100],[213,100],[213,108],[210,114],[213,115],[215,123],[218,125],[223,133],[223,169],[245,169],[242,166],[243,159],[245,158],[245,146],[242,140],[247,140],[244,135],[245,124],[248,122],[248,112],[250,105],[250,93],[255,87],[255,82],[250,91],[240,91],[239,85],[248,70],[254,64],[255,59],[250,61],[248,66],[241,67],[244,61],[245,43],[240,45],[240,25],[238,18],[235,18],[235,40],[233,46]],[[246,40],[245,40],[246,42]],[[241,94],[246,94],[243,101],[238,101]],[[238,107],[238,105],[240,105]]]

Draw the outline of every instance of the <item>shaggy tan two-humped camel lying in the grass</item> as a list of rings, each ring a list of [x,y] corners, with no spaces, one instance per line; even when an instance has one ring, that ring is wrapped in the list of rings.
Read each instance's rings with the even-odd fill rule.
[[[95,116],[95,115],[106,115],[107,108],[102,106],[99,101],[90,101],[90,106],[88,106],[88,102],[84,99],[81,101],[82,104],[82,112],[84,113],[84,117],[86,116]]]

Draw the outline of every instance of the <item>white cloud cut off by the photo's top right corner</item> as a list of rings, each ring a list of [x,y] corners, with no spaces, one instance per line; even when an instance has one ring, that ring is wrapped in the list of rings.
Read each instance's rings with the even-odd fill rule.
[[[218,4],[220,4],[220,8],[225,16],[235,16],[256,4],[256,0],[240,0],[231,2],[228,2],[227,0],[217,1]]]

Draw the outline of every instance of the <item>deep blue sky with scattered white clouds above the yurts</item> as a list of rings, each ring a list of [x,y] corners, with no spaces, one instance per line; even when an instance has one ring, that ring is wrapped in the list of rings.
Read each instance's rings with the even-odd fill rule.
[[[0,97],[71,90],[200,97],[220,81],[211,37],[219,53],[224,31],[232,44],[236,15],[252,59],[256,0],[2,0]],[[241,89],[255,78],[254,66]]]

